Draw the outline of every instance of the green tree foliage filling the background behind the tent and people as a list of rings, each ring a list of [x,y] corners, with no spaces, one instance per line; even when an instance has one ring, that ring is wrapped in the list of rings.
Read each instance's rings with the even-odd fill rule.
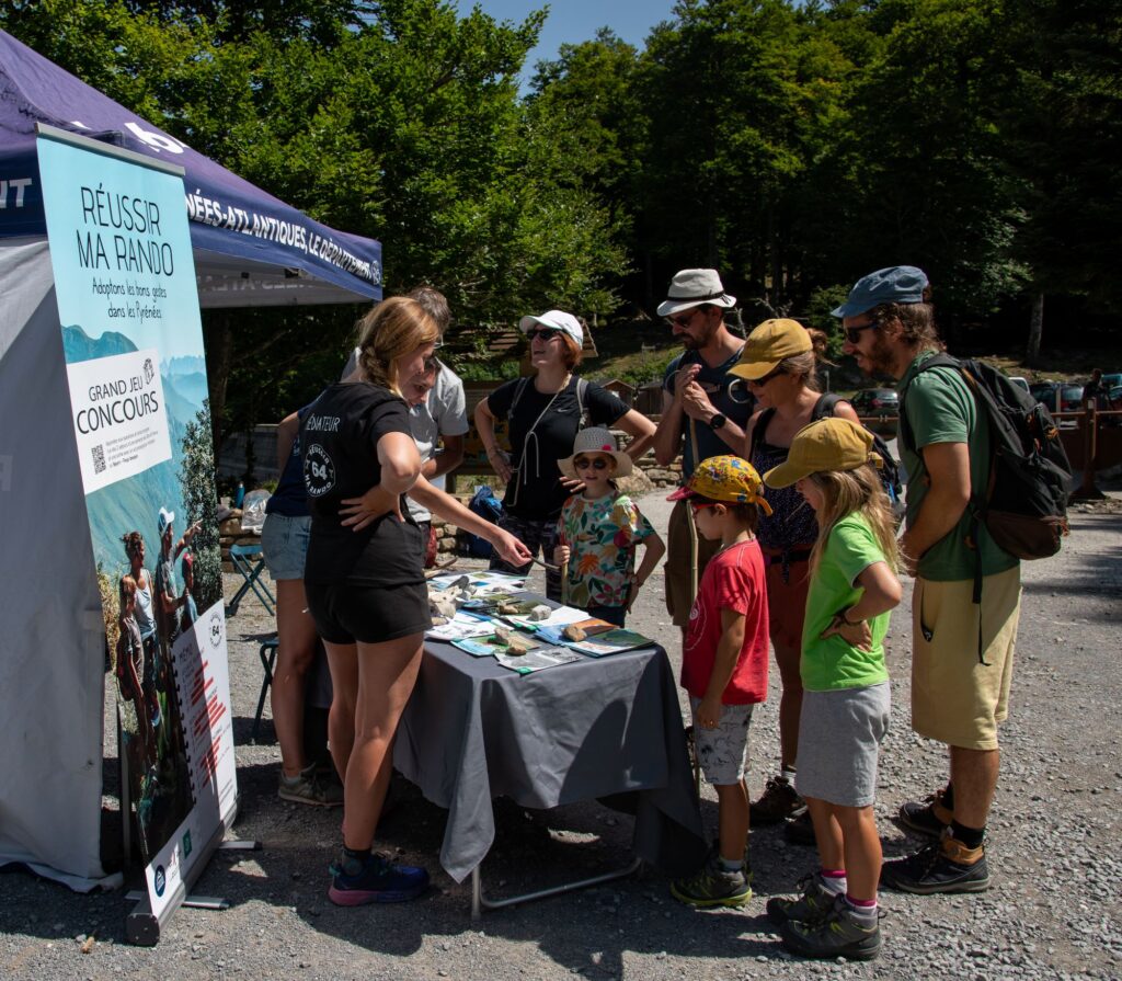
[[[930,274],[957,331],[1027,324],[1045,294],[1122,309],[1118,3],[680,0],[642,48],[603,29],[531,73],[544,18],[450,0],[0,2],[0,26],[111,98],[381,239],[387,291],[431,283],[460,324],[651,313],[693,265],[721,271],[749,322],[817,318],[898,263]],[[215,421],[310,398],[355,319],[208,314]]]

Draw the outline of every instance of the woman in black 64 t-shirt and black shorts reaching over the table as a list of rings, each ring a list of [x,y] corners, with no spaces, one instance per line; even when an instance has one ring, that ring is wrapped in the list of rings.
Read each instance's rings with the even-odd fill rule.
[[[424,869],[393,864],[370,847],[389,782],[394,733],[431,624],[424,543],[402,495],[420,483],[438,513],[434,498],[447,495],[420,476],[401,392],[425,370],[438,336],[415,301],[378,304],[361,323],[362,381],[327,388],[301,422],[312,515],[304,587],[328,650],[334,687],[331,754],[343,777],[343,854],[332,867],[328,896],[342,906],[412,899],[429,884]],[[493,540],[513,558],[525,554],[497,529]]]

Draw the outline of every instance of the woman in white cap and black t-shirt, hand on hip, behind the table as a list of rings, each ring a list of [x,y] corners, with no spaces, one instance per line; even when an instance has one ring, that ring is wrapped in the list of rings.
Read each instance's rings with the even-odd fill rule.
[[[476,406],[476,429],[487,459],[507,485],[499,526],[521,539],[533,554],[548,561],[557,547],[561,506],[573,482],[562,482],[558,460],[572,452],[577,432],[586,424],[615,427],[633,437],[627,456],[637,459],[650,446],[654,423],[628,409],[613,393],[573,374],[581,360],[585,331],[571,313],[550,310],[518,322],[530,339],[530,360],[536,374],[499,385]],[[512,455],[499,449],[495,421],[509,425]],[[567,486],[568,484],[568,486]],[[530,563],[513,567],[499,558],[493,569],[524,575]],[[548,569],[545,593],[561,598],[561,576]]]

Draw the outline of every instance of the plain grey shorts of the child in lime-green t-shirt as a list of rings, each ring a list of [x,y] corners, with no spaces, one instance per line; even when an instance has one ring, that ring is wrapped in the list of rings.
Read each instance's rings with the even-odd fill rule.
[[[891,708],[888,681],[840,691],[803,691],[794,778],[799,794],[839,807],[871,807]]]

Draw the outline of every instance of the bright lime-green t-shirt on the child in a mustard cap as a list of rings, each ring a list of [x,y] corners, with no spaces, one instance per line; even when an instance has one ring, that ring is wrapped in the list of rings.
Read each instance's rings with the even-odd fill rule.
[[[874,562],[883,561],[884,552],[864,515],[856,512],[849,514],[830,530],[807,593],[800,662],[802,687],[807,691],[865,688],[889,680],[889,671],[884,667],[888,613],[868,621],[873,632],[871,651],[852,647],[838,634],[825,640],[821,636],[835,613],[861,599],[865,590],[856,585],[857,577]]]

